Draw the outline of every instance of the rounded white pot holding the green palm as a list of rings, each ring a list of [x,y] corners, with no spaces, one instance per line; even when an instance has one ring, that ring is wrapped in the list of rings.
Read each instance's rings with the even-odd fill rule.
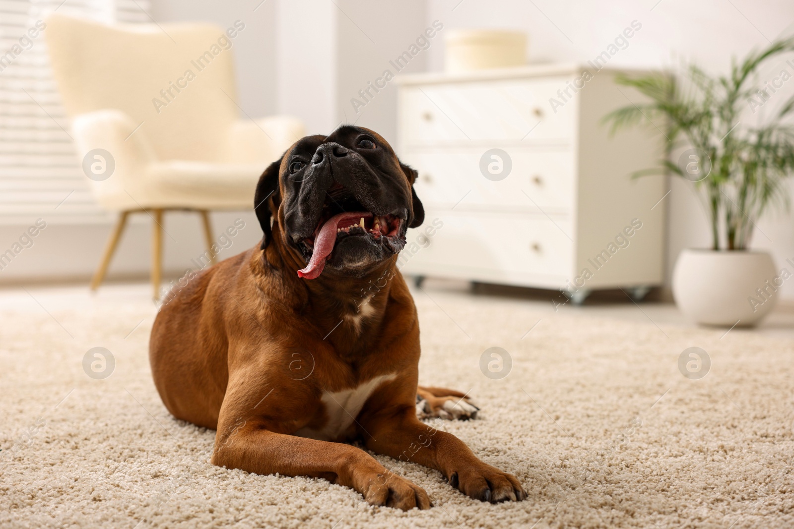
[[[673,270],[673,297],[699,324],[757,324],[777,303],[785,278],[765,251],[681,251]]]

